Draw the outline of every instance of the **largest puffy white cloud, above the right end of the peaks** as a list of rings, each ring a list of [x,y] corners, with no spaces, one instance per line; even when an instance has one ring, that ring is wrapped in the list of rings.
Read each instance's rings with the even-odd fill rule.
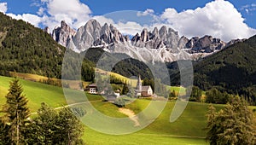
[[[207,3],[204,8],[188,9],[180,13],[175,9],[166,9],[161,18],[188,37],[209,34],[229,41],[248,38],[256,33],[256,30],[247,26],[234,5],[224,0],[216,0]]]

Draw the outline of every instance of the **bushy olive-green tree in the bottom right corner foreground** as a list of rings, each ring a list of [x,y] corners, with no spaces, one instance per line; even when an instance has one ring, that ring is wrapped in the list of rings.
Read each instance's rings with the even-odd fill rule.
[[[256,143],[253,124],[253,112],[247,107],[247,102],[236,96],[218,113],[214,107],[209,108],[207,140],[212,145],[253,145]]]

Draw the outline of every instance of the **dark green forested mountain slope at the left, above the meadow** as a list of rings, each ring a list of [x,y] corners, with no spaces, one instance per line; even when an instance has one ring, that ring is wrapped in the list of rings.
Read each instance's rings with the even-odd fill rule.
[[[48,33],[0,13],[0,70],[61,78],[65,48]]]

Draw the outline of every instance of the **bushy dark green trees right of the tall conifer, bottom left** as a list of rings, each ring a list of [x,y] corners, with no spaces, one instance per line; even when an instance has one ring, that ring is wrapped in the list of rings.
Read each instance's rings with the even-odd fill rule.
[[[84,112],[79,110],[79,114],[75,114],[80,116]],[[83,144],[83,132],[84,126],[69,108],[62,107],[56,111],[42,103],[38,117],[28,126],[26,138],[28,144]]]

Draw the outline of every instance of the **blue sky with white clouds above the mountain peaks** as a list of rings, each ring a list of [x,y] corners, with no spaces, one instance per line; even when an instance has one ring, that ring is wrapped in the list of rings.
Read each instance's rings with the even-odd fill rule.
[[[122,10],[133,11],[116,12]],[[143,27],[160,25],[187,37],[209,34],[229,40],[256,34],[255,0],[0,0],[0,11],[51,29],[61,20],[77,29],[95,18],[102,23],[113,22],[131,35]],[[141,16],[137,11],[142,11]]]

